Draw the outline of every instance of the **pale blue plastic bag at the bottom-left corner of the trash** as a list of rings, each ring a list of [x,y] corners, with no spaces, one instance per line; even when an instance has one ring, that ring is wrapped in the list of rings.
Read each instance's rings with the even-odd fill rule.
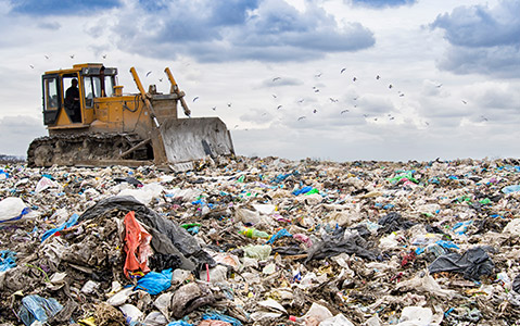
[[[61,305],[55,299],[45,299],[38,294],[33,294],[22,299],[18,317],[27,326],[31,325],[35,321],[45,324],[62,309],[63,305]]]

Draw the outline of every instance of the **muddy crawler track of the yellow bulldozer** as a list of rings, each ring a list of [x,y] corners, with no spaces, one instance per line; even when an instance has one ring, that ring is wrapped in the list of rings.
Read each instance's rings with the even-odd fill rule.
[[[28,166],[106,165],[103,162],[151,161],[150,146],[143,146],[122,156],[143,139],[137,134],[78,134],[36,138],[27,150]],[[99,162],[99,164],[96,164]]]

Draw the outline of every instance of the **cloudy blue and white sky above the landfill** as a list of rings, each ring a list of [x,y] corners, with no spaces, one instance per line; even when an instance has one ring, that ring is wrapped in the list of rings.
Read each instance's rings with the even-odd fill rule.
[[[519,13],[518,0],[0,0],[0,153],[46,135],[46,71],[102,62],[125,92],[131,66],[167,92],[169,66],[241,155],[519,158]]]

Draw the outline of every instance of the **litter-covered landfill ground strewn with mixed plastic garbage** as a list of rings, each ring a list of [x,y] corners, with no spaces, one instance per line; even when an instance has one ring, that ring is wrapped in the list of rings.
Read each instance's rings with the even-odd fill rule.
[[[0,326],[520,325],[520,160],[0,165]]]

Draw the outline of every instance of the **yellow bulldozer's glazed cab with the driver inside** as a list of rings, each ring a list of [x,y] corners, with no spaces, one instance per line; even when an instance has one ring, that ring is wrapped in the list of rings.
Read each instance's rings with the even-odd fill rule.
[[[101,64],[47,72],[42,76],[45,125],[81,127],[90,123],[94,99],[113,96],[116,75],[116,68]]]

